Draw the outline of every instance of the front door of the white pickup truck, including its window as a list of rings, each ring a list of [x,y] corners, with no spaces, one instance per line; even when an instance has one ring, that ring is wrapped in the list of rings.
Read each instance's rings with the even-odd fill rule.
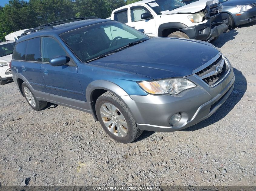
[[[150,13],[152,17],[150,19],[141,19],[141,14],[143,13]],[[139,30],[139,29],[144,29],[145,34],[151,37],[156,37],[157,36],[157,31],[155,27],[155,18],[154,15],[149,11],[146,7],[144,6],[133,6],[130,7],[129,13],[131,21],[130,21],[130,26]]]

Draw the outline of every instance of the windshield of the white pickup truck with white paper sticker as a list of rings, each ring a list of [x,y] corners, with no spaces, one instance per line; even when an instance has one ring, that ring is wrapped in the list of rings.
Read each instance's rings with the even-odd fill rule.
[[[179,0],[155,0],[147,3],[147,5],[149,5],[156,12],[156,14],[160,15],[182,7],[185,4]]]

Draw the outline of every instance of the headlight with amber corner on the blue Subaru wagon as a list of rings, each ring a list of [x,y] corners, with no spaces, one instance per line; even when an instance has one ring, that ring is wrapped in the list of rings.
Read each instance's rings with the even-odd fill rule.
[[[184,90],[194,88],[196,85],[185,78],[168,78],[157,81],[138,82],[140,87],[149,94],[177,95]]]

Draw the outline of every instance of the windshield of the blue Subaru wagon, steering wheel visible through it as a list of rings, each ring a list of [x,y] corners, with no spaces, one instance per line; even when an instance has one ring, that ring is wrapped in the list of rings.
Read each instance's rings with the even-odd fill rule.
[[[61,38],[83,62],[118,50],[130,43],[148,40],[140,31],[116,21],[107,21],[61,34]]]

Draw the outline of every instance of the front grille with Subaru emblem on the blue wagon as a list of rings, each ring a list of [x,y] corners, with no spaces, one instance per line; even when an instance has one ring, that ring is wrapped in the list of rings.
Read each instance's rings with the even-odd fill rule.
[[[220,55],[217,60],[215,60],[206,68],[197,72],[196,75],[198,75],[206,84],[212,86],[224,78],[226,72],[228,72],[228,67],[229,66],[225,59],[222,57],[222,55]]]

